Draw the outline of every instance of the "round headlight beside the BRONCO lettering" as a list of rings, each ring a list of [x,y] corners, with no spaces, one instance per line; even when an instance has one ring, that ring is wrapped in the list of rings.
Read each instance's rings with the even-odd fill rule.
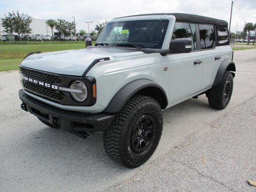
[[[74,81],[72,82],[72,84],[70,85],[71,89],[76,89],[76,90],[80,90],[80,93],[76,93],[76,92],[71,92],[71,95],[73,96],[73,98],[78,101],[78,102],[82,102],[87,98],[88,92],[87,92],[87,88],[85,86],[85,84],[81,81]]]

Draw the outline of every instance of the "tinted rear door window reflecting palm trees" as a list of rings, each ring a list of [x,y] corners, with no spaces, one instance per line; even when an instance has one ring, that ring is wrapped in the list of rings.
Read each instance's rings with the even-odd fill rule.
[[[199,34],[201,50],[214,48],[215,33],[213,25],[199,24]]]

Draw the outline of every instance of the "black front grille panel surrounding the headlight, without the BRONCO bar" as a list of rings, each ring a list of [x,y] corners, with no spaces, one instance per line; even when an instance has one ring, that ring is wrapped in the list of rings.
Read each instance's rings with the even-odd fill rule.
[[[21,79],[21,84],[24,90],[29,91],[39,97],[46,98],[48,100],[58,102],[59,104],[63,105],[92,106],[96,103],[96,98],[94,98],[92,95],[92,85],[96,84],[96,80],[93,77],[83,78],[77,76],[51,74],[48,72],[24,68],[22,66],[20,66],[20,73],[24,77],[39,81],[38,84],[36,84],[34,82],[25,80],[26,78]],[[39,84],[40,82],[44,82],[50,85],[68,88],[70,86],[70,83],[76,80],[82,81],[87,87],[89,95],[84,102],[76,102],[72,98],[70,92],[56,90],[54,88],[48,88]]]

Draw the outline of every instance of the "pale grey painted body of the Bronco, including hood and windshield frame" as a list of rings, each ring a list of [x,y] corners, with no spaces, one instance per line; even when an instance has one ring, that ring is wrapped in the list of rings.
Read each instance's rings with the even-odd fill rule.
[[[169,20],[162,45],[162,49],[168,49],[175,24],[173,15],[134,16],[118,18],[110,22],[148,19]],[[220,60],[215,60],[216,56],[220,56]],[[110,60],[97,63],[86,74],[96,79],[97,101],[93,106],[64,106],[26,93],[58,108],[96,113],[104,111],[121,88],[135,80],[146,79],[164,90],[168,98],[166,108],[169,108],[211,88],[220,64],[224,60],[231,62],[232,49],[230,46],[221,46],[209,50],[162,56],[159,53],[145,54],[130,48],[88,47],[34,54],[24,59],[21,66],[56,74],[82,76],[95,59],[105,57],[109,57]],[[202,64],[194,65],[194,61],[197,60],[202,60]],[[164,70],[166,67],[167,71]]]

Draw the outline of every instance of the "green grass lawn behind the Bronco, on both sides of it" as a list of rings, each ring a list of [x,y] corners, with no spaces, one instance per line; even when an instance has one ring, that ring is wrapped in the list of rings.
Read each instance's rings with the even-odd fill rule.
[[[95,42],[93,42],[94,44]],[[237,45],[242,44],[238,43]],[[51,52],[85,48],[84,44],[33,44],[33,45],[0,45],[0,71],[18,69],[22,59],[34,51]],[[232,47],[233,50],[255,49],[251,47]]]

